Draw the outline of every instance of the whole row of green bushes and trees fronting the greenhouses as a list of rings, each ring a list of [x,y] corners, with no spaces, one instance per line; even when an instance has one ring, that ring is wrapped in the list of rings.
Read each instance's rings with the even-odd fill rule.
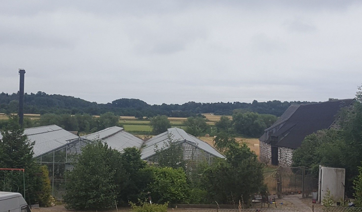
[[[245,143],[215,144],[222,147],[226,159],[215,159],[212,164],[200,160],[193,170],[183,161],[177,141],[168,145],[155,149],[159,163],[153,166],[140,159],[136,148],[119,153],[101,141],[87,144],[67,174],[66,207],[102,209],[128,204],[128,200],[134,205],[148,196],[158,204],[232,204],[240,200],[248,205],[250,196],[265,188],[263,165]]]

